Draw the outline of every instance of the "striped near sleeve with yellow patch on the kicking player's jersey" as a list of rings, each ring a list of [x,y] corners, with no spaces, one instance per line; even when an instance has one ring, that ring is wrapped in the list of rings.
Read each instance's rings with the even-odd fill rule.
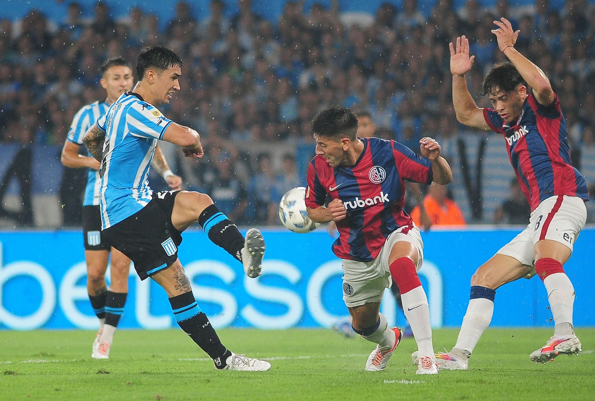
[[[134,102],[127,115],[128,130],[133,136],[162,139],[171,120],[161,111],[145,102]]]

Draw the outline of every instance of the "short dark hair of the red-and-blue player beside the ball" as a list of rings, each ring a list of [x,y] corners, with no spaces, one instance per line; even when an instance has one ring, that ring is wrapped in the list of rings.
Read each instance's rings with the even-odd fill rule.
[[[347,137],[355,140],[358,131],[358,117],[345,106],[327,107],[314,117],[310,123],[311,133],[332,139]]]

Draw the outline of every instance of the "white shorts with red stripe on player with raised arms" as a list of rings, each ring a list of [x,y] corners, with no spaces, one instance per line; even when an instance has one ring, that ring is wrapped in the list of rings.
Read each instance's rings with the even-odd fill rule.
[[[531,212],[527,228],[496,253],[512,256],[524,265],[533,266],[533,247],[540,240],[559,242],[572,252],[574,241],[583,230],[585,221],[587,208],[583,199],[577,196],[551,196]]]

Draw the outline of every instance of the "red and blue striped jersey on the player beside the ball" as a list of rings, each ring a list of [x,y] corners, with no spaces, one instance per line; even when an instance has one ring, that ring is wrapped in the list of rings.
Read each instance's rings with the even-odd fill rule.
[[[327,196],[340,199],[347,217],[337,221],[335,255],[359,262],[372,261],[397,228],[413,227],[405,211],[405,180],[430,184],[430,161],[393,140],[361,138],[364,151],[351,167],[331,167],[315,156],[308,167],[306,206],[315,209]],[[405,228],[406,230],[407,228]]]

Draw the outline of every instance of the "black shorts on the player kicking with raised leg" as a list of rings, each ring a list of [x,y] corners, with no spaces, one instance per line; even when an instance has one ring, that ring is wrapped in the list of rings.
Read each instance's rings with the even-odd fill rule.
[[[180,231],[171,224],[178,192],[154,192],[140,211],[102,231],[111,246],[134,262],[140,280],[163,270],[178,258]]]

